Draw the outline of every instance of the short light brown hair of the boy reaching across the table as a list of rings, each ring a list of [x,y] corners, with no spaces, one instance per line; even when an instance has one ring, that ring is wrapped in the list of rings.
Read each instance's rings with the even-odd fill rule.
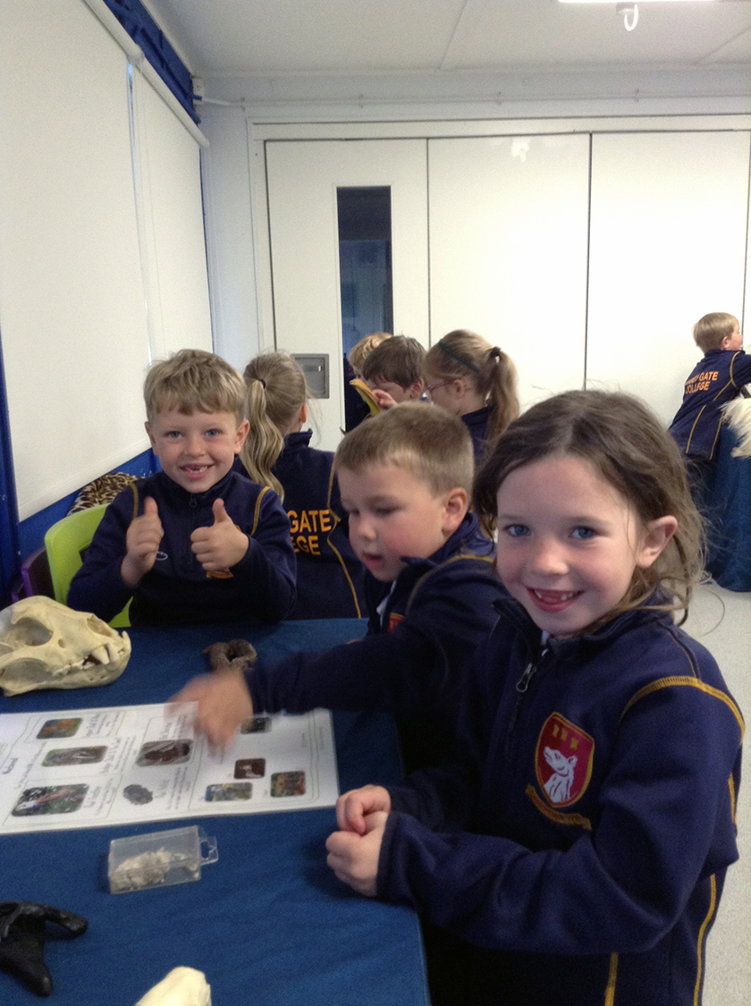
[[[373,464],[406,469],[436,496],[457,486],[472,492],[475,459],[466,427],[424,402],[406,401],[361,423],[334,456],[337,471],[359,472]]]

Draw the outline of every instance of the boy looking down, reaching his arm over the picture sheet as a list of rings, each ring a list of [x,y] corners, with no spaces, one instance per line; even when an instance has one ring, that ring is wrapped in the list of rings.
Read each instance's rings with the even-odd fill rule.
[[[197,678],[173,701],[197,700],[196,726],[218,744],[253,710],[398,705],[405,761],[434,764],[449,742],[462,667],[505,595],[493,542],[466,512],[473,468],[466,429],[442,409],[405,402],[353,430],[335,469],[350,540],[368,569],[367,636],[261,659],[244,676]]]

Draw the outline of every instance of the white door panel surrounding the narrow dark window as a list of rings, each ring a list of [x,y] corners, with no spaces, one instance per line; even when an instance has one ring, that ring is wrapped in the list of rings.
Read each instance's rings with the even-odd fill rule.
[[[427,346],[425,150],[424,140],[266,144],[275,341],[329,354],[330,396],[316,402],[327,450],[344,428],[337,189],[390,187],[394,332]]]

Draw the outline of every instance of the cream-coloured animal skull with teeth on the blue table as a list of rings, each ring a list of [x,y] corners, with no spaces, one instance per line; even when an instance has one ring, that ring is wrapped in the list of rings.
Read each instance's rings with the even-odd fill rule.
[[[114,681],[131,656],[131,641],[102,619],[51,598],[23,598],[0,612],[0,688],[85,688]]]

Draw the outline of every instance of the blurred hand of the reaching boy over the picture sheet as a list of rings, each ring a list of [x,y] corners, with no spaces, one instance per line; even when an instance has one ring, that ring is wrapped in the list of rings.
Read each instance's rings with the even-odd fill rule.
[[[170,705],[197,702],[193,726],[205,733],[214,747],[228,744],[237,727],[253,714],[253,703],[242,671],[201,674],[170,699]]]

